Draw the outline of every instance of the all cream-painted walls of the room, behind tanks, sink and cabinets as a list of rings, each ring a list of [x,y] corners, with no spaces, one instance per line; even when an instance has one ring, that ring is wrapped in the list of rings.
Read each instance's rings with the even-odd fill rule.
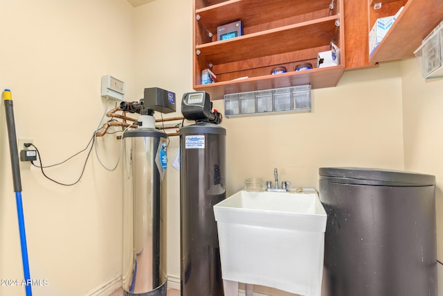
[[[192,91],[192,0],[152,1],[137,8],[125,0],[3,2],[8,14],[0,28],[9,44],[0,47],[0,87],[12,89],[17,136],[33,139],[47,164],[86,146],[105,108],[102,75],[125,80],[128,101],[141,98],[145,87],[173,91],[177,112],[165,116],[180,114],[181,96]],[[432,134],[441,125],[441,83],[423,82],[414,62],[347,71],[337,87],[312,92],[311,113],[224,119],[228,195],[242,189],[246,177],[271,180],[274,167],[280,180],[314,188],[321,166],[442,175],[433,161],[439,144]],[[428,95],[415,96],[416,89]],[[214,105],[224,110],[223,101]],[[0,278],[21,279],[3,109]],[[115,137],[100,139],[98,147],[103,162],[114,164]],[[174,137],[170,160],[178,148]],[[80,158],[48,173],[64,182],[75,180]],[[87,295],[120,275],[120,167],[105,171],[92,155],[78,185],[58,186],[29,167],[22,169],[22,182],[31,275],[50,284],[35,288],[35,295]],[[179,172],[169,165],[168,273],[174,278],[180,275],[179,235]],[[22,295],[23,290],[0,287],[0,295]]]

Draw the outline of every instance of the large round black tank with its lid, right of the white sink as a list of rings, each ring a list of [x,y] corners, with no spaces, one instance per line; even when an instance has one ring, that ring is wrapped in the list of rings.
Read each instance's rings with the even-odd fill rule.
[[[323,296],[437,296],[435,176],[320,168]]]

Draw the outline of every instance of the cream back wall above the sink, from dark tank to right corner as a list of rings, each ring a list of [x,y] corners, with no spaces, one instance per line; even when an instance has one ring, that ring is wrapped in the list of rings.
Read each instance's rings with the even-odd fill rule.
[[[314,89],[311,113],[225,119],[228,194],[246,177],[318,188],[322,166],[403,168],[399,64],[345,72]],[[223,110],[223,101],[215,102]]]

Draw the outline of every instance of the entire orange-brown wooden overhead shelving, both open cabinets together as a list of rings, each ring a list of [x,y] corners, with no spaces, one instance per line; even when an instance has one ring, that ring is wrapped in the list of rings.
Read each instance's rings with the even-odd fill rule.
[[[330,10],[331,2],[195,0],[193,87],[219,99],[224,94],[304,84],[313,89],[336,86],[345,69],[413,57],[443,20],[441,0],[339,0]],[[381,8],[374,10],[375,3]],[[401,6],[404,9],[369,57],[368,35],[374,22],[395,15]],[[335,25],[337,19],[341,26]],[[217,41],[217,26],[237,20],[244,25],[244,35]],[[315,68],[317,54],[328,51],[329,42],[341,50],[340,65],[293,71],[302,62]],[[288,72],[269,75],[277,66]],[[217,82],[201,85],[201,70],[207,68],[217,75]]]

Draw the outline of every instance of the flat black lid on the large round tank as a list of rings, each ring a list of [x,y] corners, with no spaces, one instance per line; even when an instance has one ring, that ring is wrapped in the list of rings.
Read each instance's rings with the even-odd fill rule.
[[[379,168],[319,168],[320,180],[375,186],[432,186],[435,176]]]

